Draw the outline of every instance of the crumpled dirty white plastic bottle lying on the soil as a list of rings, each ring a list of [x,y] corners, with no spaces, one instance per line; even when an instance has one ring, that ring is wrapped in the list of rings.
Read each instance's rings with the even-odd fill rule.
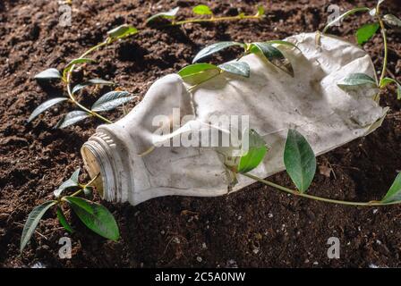
[[[118,172],[102,173],[104,187],[106,177],[114,176],[114,182],[104,189],[104,197],[137,205],[166,195],[226,194],[230,178],[216,148],[156,147],[141,156],[152,142],[201,128],[210,116],[250,115],[250,127],[263,136],[269,147],[263,163],[252,171],[262,178],[285,169],[283,151],[288,128],[300,131],[316,155],[378,128],[387,112],[373,100],[378,90],[345,91],[337,87],[339,80],[354,72],[376,79],[371,57],[340,38],[322,36],[321,46],[316,46],[315,36],[307,33],[286,38],[302,53],[278,46],[292,63],[294,78],[262,55],[246,55],[240,61],[249,63],[250,78],[223,72],[202,83],[192,94],[176,74],[157,80],[130,114],[119,122],[98,127],[94,137],[100,134],[110,139],[109,156],[122,158],[115,167]],[[173,108],[180,108],[181,115],[193,114],[194,122],[200,124],[188,122],[166,138],[155,135],[157,127],[152,126],[152,119],[158,114],[171,115]],[[89,160],[85,161],[90,175],[95,176]],[[241,175],[238,180],[232,190],[253,182]]]

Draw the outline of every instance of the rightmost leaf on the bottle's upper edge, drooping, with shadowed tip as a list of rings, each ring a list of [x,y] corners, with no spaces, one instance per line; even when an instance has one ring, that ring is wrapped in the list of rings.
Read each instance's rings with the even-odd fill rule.
[[[288,59],[286,59],[283,53],[281,53],[280,50],[278,50],[277,47],[273,46],[272,44],[269,44],[268,42],[252,43],[250,46],[250,52],[260,52],[269,60],[270,63],[294,77],[293,65]]]

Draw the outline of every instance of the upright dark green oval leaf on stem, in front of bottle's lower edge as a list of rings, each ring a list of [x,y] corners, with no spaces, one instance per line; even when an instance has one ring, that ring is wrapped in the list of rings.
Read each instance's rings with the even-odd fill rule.
[[[288,130],[284,148],[286,172],[300,192],[311,185],[316,172],[316,157],[308,141],[297,130]]]

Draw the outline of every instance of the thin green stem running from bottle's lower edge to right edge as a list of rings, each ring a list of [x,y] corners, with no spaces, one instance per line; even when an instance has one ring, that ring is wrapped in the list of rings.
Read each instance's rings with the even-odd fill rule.
[[[288,189],[286,187],[277,185],[274,182],[271,181],[266,181],[263,180],[257,176],[254,176],[250,173],[241,173],[243,176],[251,178],[255,181],[259,181],[265,185],[268,185],[270,187],[273,187],[275,189],[281,190],[283,192],[286,192],[288,194],[292,194],[294,196],[298,196],[298,197],[302,197],[302,198],[309,198],[309,199],[314,199],[314,200],[318,200],[321,202],[326,202],[326,203],[330,203],[330,204],[337,204],[337,205],[346,205],[346,206],[388,206],[388,205],[395,205],[397,204],[397,202],[390,202],[390,203],[381,203],[380,201],[370,201],[370,202],[351,202],[351,201],[344,201],[344,200],[337,200],[337,199],[331,199],[331,198],[321,198],[321,197],[317,197],[317,196],[312,196],[312,195],[308,195],[305,193],[301,193],[297,190],[294,189]]]

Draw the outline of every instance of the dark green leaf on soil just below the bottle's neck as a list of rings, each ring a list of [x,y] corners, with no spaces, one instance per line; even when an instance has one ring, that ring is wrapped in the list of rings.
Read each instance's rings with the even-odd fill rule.
[[[70,203],[75,214],[81,219],[91,231],[108,240],[118,240],[118,231],[115,218],[105,206],[101,206],[84,198],[64,197]]]

